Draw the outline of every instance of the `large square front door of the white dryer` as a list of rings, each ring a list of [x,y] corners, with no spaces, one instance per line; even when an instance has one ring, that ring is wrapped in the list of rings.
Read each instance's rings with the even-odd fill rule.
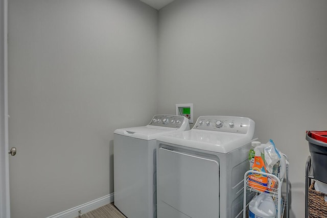
[[[219,217],[219,163],[160,148],[157,199],[158,218]]]

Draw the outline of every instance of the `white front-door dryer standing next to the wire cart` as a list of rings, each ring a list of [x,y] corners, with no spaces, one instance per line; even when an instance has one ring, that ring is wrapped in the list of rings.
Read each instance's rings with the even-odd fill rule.
[[[250,118],[200,116],[190,131],[157,138],[158,218],[242,217]]]

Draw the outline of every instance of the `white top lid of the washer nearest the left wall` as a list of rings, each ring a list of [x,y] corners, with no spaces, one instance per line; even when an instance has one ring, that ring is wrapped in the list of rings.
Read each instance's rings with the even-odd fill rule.
[[[175,128],[145,126],[145,127],[131,127],[125,129],[116,129],[113,133],[132,137],[132,138],[153,140],[153,139],[157,139],[159,135],[170,134],[179,131],[181,130]]]

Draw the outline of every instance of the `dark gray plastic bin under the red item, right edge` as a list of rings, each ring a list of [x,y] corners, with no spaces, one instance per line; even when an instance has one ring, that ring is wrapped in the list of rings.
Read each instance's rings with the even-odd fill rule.
[[[308,131],[306,139],[309,141],[314,178],[327,183],[327,143],[311,138]]]

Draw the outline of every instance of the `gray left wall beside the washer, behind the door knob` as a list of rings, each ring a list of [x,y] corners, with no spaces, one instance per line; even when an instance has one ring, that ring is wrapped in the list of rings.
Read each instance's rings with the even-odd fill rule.
[[[157,14],[135,0],[9,1],[12,218],[113,192],[114,129],[157,112]]]

